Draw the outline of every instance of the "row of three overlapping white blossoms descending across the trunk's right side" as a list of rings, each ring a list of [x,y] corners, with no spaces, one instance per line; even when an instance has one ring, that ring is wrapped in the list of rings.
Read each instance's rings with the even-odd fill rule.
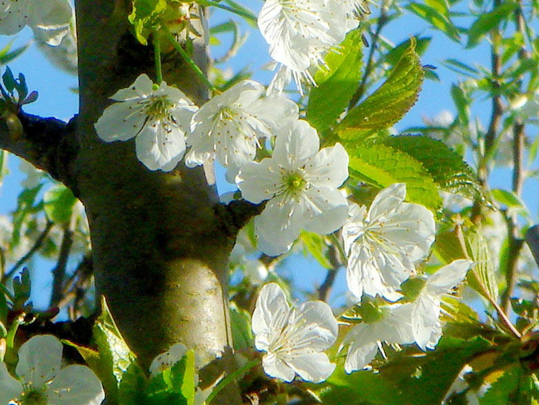
[[[348,154],[341,144],[320,149],[316,130],[284,95],[266,96],[261,84],[245,80],[199,109],[177,88],[156,88],[140,75],[111,99],[95,124],[102,140],[135,138],[138,159],[151,170],[171,171],[184,155],[187,167],[217,160],[243,198],[269,200],[255,220],[266,254],[287,252],[301,229],[328,234],[346,220],[338,187],[348,178]],[[254,162],[273,138],[272,157]]]

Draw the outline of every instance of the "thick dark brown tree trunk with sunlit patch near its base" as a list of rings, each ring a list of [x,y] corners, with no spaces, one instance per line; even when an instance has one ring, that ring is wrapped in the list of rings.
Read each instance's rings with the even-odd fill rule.
[[[221,225],[216,189],[202,168],[180,162],[170,173],[149,171],[134,139],[97,138],[93,124],[108,97],[141,73],[155,77],[153,47],[136,42],[126,12],[121,19],[113,13],[115,3],[76,1],[80,111],[70,187],[88,214],[97,292],[141,364],[178,341],[207,364],[232,346],[227,261],[234,238]],[[178,58],[164,57],[164,79],[200,105],[207,91]],[[204,35],[193,59],[205,70]]]

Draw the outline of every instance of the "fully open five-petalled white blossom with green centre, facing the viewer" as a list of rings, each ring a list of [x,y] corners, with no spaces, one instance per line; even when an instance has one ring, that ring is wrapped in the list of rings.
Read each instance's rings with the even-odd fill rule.
[[[319,150],[316,130],[303,120],[277,135],[272,158],[249,162],[236,176],[243,198],[269,200],[255,218],[258,248],[287,252],[301,229],[328,234],[346,220],[348,203],[340,185],[348,178],[348,154],[339,143]]]

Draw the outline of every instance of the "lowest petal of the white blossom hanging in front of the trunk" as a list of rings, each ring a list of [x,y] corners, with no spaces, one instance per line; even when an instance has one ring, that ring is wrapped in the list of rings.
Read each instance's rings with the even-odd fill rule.
[[[150,170],[173,170],[185,153],[184,133],[167,122],[148,122],[136,140],[137,158]]]

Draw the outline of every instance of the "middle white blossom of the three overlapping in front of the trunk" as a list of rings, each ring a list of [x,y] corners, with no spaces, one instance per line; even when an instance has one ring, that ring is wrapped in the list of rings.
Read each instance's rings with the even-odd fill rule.
[[[187,137],[187,167],[217,158],[224,167],[239,168],[254,159],[258,138],[269,138],[298,119],[296,103],[284,95],[263,97],[264,93],[261,84],[244,80],[200,107]]]

